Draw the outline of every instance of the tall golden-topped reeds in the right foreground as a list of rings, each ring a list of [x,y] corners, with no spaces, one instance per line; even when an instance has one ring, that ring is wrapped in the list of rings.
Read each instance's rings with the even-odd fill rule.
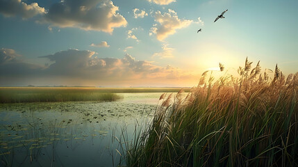
[[[269,81],[269,71],[246,60],[239,77],[213,81],[207,71],[186,98],[162,95],[149,127],[126,145],[126,164],[298,166],[298,73],[285,77],[276,65]]]

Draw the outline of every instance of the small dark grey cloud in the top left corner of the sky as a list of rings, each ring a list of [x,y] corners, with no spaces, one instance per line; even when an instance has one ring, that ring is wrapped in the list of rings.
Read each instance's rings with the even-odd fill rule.
[[[38,3],[27,4],[21,0],[0,0],[0,13],[6,17],[19,16],[28,19],[35,15],[43,15],[46,10],[38,6]]]

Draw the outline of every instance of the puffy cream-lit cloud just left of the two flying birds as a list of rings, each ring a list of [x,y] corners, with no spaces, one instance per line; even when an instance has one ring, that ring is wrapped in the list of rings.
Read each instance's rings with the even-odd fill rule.
[[[158,40],[164,40],[168,35],[176,33],[176,29],[183,29],[192,23],[192,20],[179,19],[177,13],[174,10],[169,9],[169,13],[155,13],[155,21],[158,24],[154,24],[150,29],[149,35],[156,34]]]

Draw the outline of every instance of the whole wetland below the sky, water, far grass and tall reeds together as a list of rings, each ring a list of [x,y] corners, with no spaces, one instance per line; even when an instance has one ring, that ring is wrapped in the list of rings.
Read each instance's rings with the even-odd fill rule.
[[[223,71],[191,89],[1,88],[1,165],[297,166],[298,73]]]

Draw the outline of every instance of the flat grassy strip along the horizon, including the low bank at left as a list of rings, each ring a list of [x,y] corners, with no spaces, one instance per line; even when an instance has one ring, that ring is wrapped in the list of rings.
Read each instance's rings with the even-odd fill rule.
[[[52,87],[2,87],[0,103],[20,102],[69,102],[69,101],[115,101],[115,93],[178,92],[181,88],[52,88]],[[186,88],[185,91],[189,91]]]

